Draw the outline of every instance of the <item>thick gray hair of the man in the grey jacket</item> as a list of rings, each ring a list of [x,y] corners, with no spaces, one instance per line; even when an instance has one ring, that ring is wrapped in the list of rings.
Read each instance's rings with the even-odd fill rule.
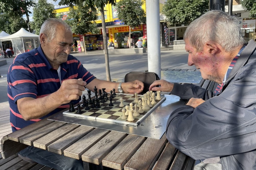
[[[219,43],[227,52],[245,43],[239,20],[220,10],[206,12],[191,22],[183,38],[197,52],[203,51],[207,41]]]

